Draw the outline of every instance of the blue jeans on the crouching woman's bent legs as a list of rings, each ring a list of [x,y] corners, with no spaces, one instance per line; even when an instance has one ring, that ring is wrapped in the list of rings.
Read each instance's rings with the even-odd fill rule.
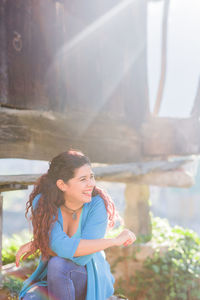
[[[30,289],[24,300],[85,300],[87,292],[86,267],[54,256],[48,262],[48,292],[45,287]]]

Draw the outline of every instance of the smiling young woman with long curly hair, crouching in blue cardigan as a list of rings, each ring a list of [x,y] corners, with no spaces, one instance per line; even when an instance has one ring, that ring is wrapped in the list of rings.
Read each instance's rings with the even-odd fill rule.
[[[89,159],[75,150],[53,158],[30,195],[26,215],[29,209],[33,241],[19,249],[16,265],[37,249],[41,258],[19,299],[106,300],[113,295],[114,278],[102,250],[136,238],[128,229],[104,238],[115,208],[96,187]]]

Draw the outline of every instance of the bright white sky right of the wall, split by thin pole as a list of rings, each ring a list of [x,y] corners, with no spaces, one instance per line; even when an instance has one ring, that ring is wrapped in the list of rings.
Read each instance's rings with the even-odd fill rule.
[[[150,103],[156,98],[161,60],[163,1],[148,4]],[[167,76],[160,116],[188,117],[200,77],[200,1],[171,0],[168,19]]]

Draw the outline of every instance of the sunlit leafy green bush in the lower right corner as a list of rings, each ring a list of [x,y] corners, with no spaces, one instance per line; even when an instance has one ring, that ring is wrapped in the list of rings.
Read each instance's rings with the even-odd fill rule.
[[[199,236],[178,226],[171,228],[166,220],[152,218],[152,242],[158,245],[153,257],[145,260],[142,270],[128,283],[121,278],[117,291],[134,300],[200,299]],[[161,253],[163,243],[168,250]]]

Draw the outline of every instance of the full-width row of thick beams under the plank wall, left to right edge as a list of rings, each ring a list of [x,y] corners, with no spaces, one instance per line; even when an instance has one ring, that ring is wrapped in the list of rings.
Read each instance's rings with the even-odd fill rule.
[[[72,147],[93,162],[128,163],[200,154],[200,122],[151,118],[136,131],[114,115],[0,108],[0,145],[0,158],[50,160]]]

